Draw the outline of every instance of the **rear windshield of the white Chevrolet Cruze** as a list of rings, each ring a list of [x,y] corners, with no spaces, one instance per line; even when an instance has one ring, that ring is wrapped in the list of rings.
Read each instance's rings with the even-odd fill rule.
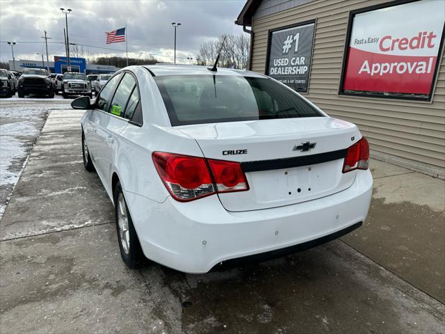
[[[154,80],[172,126],[323,116],[299,95],[267,78],[181,75]]]

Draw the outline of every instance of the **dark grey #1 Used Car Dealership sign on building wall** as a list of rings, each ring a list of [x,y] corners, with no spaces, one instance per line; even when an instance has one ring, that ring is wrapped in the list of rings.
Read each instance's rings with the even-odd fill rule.
[[[315,24],[303,24],[269,33],[266,74],[287,86],[307,92]]]

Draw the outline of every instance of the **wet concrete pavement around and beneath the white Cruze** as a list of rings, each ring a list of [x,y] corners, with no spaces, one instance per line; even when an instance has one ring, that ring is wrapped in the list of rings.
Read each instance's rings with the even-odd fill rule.
[[[83,169],[82,112],[32,103],[51,110],[0,221],[1,333],[445,332],[442,180],[371,161],[369,219],[341,240],[202,275],[133,271]]]

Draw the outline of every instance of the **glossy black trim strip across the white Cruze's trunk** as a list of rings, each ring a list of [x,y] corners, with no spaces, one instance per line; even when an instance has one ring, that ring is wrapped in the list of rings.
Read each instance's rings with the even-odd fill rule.
[[[241,162],[241,168],[245,173],[258,172],[260,170],[274,170],[293,168],[300,166],[309,166],[315,164],[321,164],[323,162],[343,159],[346,157],[348,149],[344,150],[318,153],[312,155],[305,155],[304,157],[292,157],[284,159],[271,159],[271,160],[259,160],[259,161],[244,161]]]

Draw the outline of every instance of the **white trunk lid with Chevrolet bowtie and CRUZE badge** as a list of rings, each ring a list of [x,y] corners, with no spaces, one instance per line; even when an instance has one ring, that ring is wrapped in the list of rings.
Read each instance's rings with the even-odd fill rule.
[[[248,211],[314,200],[347,189],[342,173],[357,127],[330,117],[221,122],[177,127],[209,159],[238,161],[250,189],[219,193],[228,211]]]

